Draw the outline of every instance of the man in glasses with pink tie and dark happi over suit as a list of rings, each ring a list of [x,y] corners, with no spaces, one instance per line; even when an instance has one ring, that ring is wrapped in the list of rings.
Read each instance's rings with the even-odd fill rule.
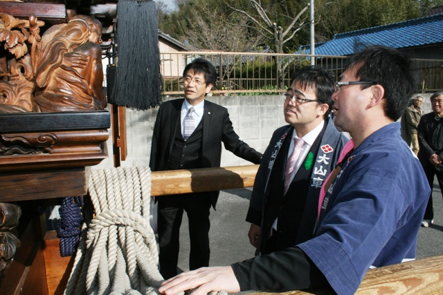
[[[283,93],[284,120],[257,171],[246,221],[258,254],[314,238],[320,188],[334,170],[347,138],[329,118],[335,82],[323,68],[302,68]],[[302,142],[295,162],[294,141]],[[285,173],[285,171],[289,171]]]

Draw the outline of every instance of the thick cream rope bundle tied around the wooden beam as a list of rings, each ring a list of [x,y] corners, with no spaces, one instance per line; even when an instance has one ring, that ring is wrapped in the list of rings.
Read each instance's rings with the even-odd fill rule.
[[[92,170],[80,244],[64,294],[159,294],[149,167]],[[86,208],[85,208],[86,210]]]

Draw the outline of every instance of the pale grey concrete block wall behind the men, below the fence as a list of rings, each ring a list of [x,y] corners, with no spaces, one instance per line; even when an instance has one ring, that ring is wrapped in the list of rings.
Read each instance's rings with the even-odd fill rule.
[[[424,94],[425,113],[431,112],[431,94]],[[415,95],[413,96],[415,97]],[[283,116],[283,99],[280,95],[255,96],[213,96],[206,97],[210,102],[228,108],[230,120],[240,139],[261,153],[269,144],[275,129],[286,124]],[[147,111],[127,110],[127,150],[128,155],[121,166],[148,166],[150,162],[152,132],[158,108]],[[111,134],[111,130],[109,130]],[[109,158],[94,166],[104,169],[114,166],[112,158],[112,139],[107,142]],[[251,162],[237,158],[222,149],[221,166],[248,165]]]

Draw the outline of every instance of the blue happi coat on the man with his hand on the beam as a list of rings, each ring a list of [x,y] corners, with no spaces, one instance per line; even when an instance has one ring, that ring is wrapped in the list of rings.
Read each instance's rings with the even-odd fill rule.
[[[430,188],[399,123],[352,151],[320,209],[316,238],[298,245],[337,294],[354,294],[372,267],[415,258]]]

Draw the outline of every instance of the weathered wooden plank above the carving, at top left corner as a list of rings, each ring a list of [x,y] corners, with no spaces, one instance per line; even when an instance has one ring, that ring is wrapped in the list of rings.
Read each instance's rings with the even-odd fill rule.
[[[13,17],[29,19],[31,13],[39,20],[58,20],[66,22],[66,7],[64,4],[4,2],[0,1],[0,11]]]

